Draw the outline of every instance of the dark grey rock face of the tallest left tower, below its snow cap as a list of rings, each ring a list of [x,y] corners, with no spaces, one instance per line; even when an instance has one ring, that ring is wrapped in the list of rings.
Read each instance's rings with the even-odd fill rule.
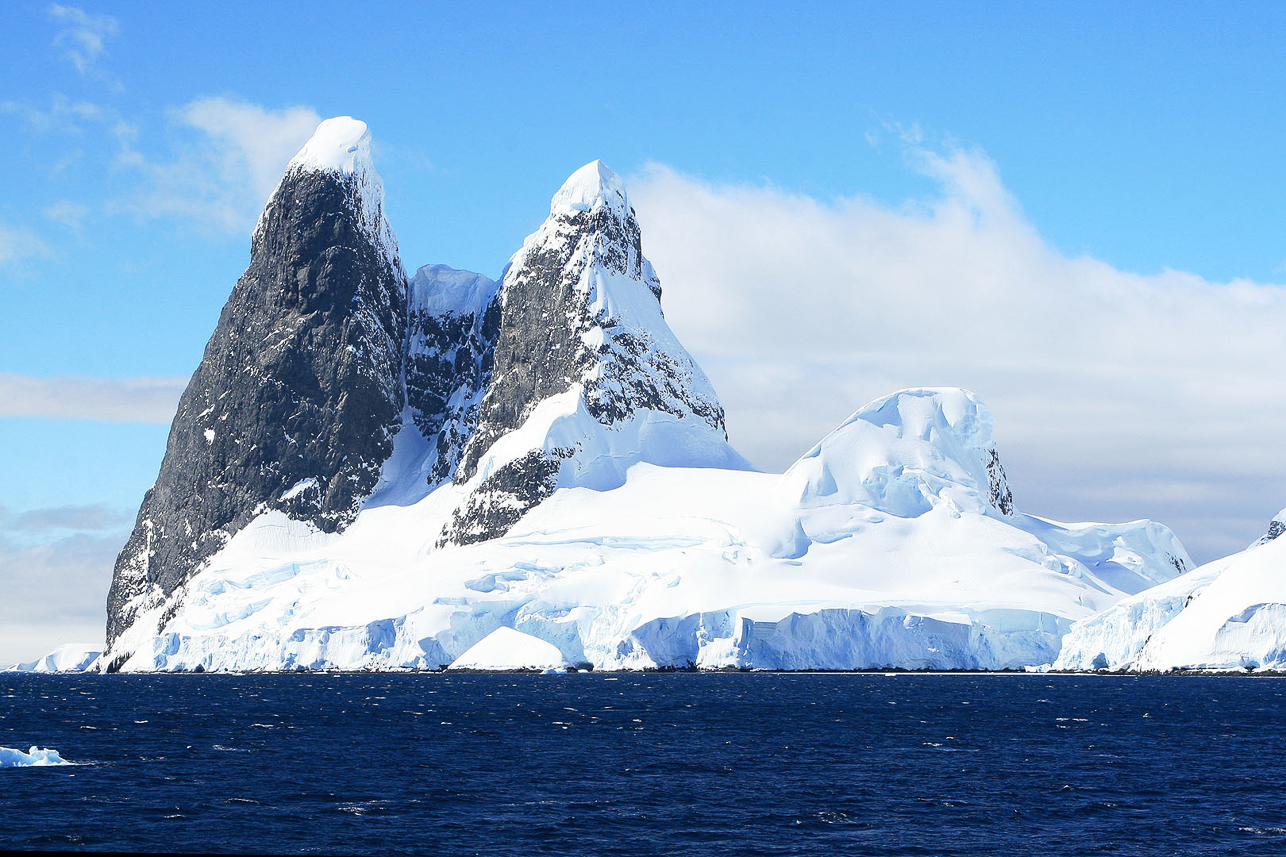
[[[262,510],[336,531],[374,488],[400,425],[406,281],[372,176],[282,179],[117,558],[109,642]]]

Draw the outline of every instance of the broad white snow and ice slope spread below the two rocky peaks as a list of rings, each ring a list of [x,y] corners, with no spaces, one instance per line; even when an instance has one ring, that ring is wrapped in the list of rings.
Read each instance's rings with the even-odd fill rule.
[[[342,533],[266,512],[136,624],[122,668],[439,668],[512,628],[599,669],[997,669],[1051,661],[1074,620],[1187,564],[1156,524],[1015,512],[990,414],[955,389],[880,399],[782,475],[639,462],[437,547],[462,492]]]

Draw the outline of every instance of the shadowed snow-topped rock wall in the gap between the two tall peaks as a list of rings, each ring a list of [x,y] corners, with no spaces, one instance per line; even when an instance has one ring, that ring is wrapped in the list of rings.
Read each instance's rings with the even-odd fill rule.
[[[428,483],[451,477],[477,426],[500,332],[498,284],[482,274],[426,265],[410,281],[406,404],[433,440]]]

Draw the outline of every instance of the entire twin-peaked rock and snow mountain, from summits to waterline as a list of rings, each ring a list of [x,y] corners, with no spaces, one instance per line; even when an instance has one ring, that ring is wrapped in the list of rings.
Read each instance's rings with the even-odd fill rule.
[[[1157,524],[1016,512],[963,390],[754,472],[601,162],[500,283],[399,291],[359,125],[323,124],[256,230],[122,552],[108,668],[995,669],[1187,566]]]

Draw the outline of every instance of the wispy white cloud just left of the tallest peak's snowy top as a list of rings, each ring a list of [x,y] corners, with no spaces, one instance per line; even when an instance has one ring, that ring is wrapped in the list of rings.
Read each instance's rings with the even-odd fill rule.
[[[320,121],[307,107],[197,99],[174,112],[180,142],[166,158],[130,149],[120,160],[143,174],[141,188],[123,207],[143,217],[177,216],[215,233],[244,234]]]

